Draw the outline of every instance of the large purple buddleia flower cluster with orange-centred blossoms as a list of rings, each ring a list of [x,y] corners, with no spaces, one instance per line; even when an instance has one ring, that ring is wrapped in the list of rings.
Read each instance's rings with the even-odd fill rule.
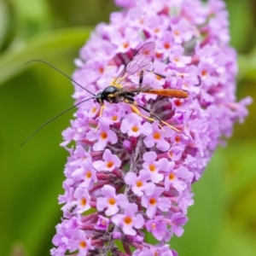
[[[236,120],[247,115],[250,98],[236,102],[236,51],[229,46],[223,1],[115,2],[123,9],[110,15],[109,24],[96,26],[75,60],[73,79],[96,94],[137,49],[154,43],[143,83],[189,96],[134,96],[164,124],[125,102],[104,102],[101,108],[92,99],[78,105],[61,143],[70,156],[51,255],[177,255],[169,241],[183,235],[193,204],[191,184],[231,136]],[[74,87],[76,103],[91,97]],[[71,142],[75,146],[68,147]],[[147,233],[159,243],[149,244]]]

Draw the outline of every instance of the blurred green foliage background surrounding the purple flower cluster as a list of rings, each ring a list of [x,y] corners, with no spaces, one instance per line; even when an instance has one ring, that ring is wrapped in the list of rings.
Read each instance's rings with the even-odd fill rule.
[[[237,97],[256,90],[256,1],[227,0],[231,44],[239,53]],[[61,210],[67,152],[61,131],[73,113],[47,125],[20,148],[38,125],[72,106],[68,79],[73,60],[96,23],[116,9],[111,0],[0,0],[0,255],[49,255]],[[201,181],[189,223],[172,247],[180,256],[256,255],[256,108],[218,148]]]

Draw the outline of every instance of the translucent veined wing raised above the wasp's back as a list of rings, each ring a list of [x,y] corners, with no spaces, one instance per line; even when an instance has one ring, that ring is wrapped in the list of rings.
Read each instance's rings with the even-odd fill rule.
[[[113,80],[113,86],[119,88],[136,88],[139,84],[141,73],[148,72],[150,63],[154,58],[154,42],[148,42],[137,50],[131,60],[125,65],[119,76]]]

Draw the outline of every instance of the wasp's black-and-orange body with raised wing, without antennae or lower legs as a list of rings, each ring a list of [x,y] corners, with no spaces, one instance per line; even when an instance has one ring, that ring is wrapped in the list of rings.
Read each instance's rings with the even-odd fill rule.
[[[105,101],[110,103],[125,102],[134,104],[134,97],[139,93],[178,99],[187,98],[189,94],[185,90],[154,89],[151,86],[143,84],[144,75],[146,73],[154,73],[154,71],[148,69],[150,62],[154,59],[154,49],[154,42],[144,44],[138,49],[131,60],[125,65],[123,71],[119,73],[119,76],[113,80],[113,83],[96,94],[96,101],[101,105]],[[166,79],[165,75],[160,73],[154,74],[161,79]]]

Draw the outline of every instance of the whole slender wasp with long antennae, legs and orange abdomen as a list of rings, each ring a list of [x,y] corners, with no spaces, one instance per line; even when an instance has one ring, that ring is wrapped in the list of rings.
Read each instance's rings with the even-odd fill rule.
[[[90,92],[90,90],[87,90],[82,85],[71,79],[67,76],[67,74],[61,72],[58,68],[54,67],[53,65],[41,61],[41,60],[33,60],[33,61],[41,61],[45,64],[49,65],[50,67],[53,67],[58,72],[65,75],[68,79],[72,80],[73,83],[79,85],[82,89],[89,92],[92,97],[85,99],[82,102],[79,102],[75,104],[71,108],[67,108],[65,111],[59,113],[56,115],[53,119],[49,119],[44,125],[41,125],[38,127],[36,131],[32,133],[30,137],[26,139],[24,143],[26,143],[31,137],[33,137],[39,130],[41,130],[45,125],[48,125],[51,121],[61,116],[61,114],[66,113],[72,108],[77,107],[83,102],[90,101],[92,99],[96,99],[96,102],[98,102],[101,105],[101,111],[99,118],[102,115],[102,111],[105,108],[104,102],[110,102],[110,103],[119,103],[119,102],[125,102],[129,104],[132,108],[132,110],[137,113],[138,115],[142,116],[144,119],[148,119],[150,121],[154,121],[155,119],[158,119],[160,123],[167,125],[172,128],[174,131],[178,131],[177,128],[174,126],[166,123],[163,119],[160,119],[159,116],[157,116],[154,112],[152,112],[149,108],[145,108],[135,101],[135,96],[137,96],[139,93],[146,93],[146,94],[154,94],[157,96],[166,96],[166,97],[174,97],[174,98],[187,98],[189,96],[188,92],[185,90],[179,90],[179,89],[153,89],[151,86],[143,85],[143,78],[146,73],[154,73],[154,71],[149,70],[150,63],[154,60],[154,50],[155,50],[155,44],[154,42],[148,42],[147,44],[143,44],[143,46],[137,50],[137,52],[131,57],[131,60],[128,61],[128,63],[125,65],[124,69],[121,73],[119,73],[118,77],[113,80],[111,85],[108,85],[104,90],[101,90],[97,92],[96,94],[93,94]],[[29,61],[31,62],[31,61]],[[28,62],[28,63],[29,63]],[[162,79],[166,79],[166,76],[160,74],[160,73],[154,73],[155,75],[159,76]],[[151,115],[151,117],[148,117],[146,115],[143,115],[139,111],[138,108],[143,109],[147,113]],[[97,129],[97,128],[96,128]],[[22,146],[24,143],[21,143],[20,146]]]

